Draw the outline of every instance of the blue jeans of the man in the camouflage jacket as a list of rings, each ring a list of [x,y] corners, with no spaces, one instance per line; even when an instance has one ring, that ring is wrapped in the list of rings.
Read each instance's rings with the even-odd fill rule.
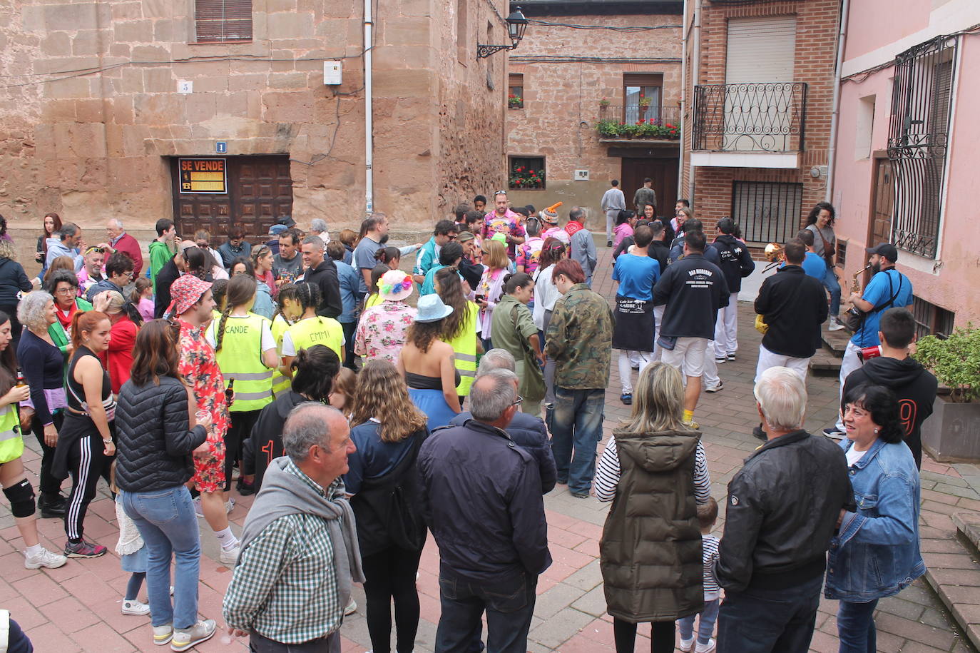
[[[586,493],[596,475],[596,444],[603,438],[606,390],[570,390],[555,386],[552,415],[552,454],[560,480],[568,489]],[[574,448],[574,455],[572,455]]]

